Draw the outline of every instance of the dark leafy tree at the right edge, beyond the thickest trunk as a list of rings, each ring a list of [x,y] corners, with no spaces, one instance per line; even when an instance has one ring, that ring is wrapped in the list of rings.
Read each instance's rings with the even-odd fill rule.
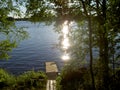
[[[120,12],[120,7],[119,7],[120,1],[116,0],[116,1],[112,1],[110,0],[109,5],[108,5],[108,28],[110,29],[109,32],[109,42],[110,42],[110,46],[109,46],[109,58],[112,58],[112,63],[113,63],[113,73],[115,73],[115,63],[117,60],[119,60],[120,58],[120,16],[119,13]]]

